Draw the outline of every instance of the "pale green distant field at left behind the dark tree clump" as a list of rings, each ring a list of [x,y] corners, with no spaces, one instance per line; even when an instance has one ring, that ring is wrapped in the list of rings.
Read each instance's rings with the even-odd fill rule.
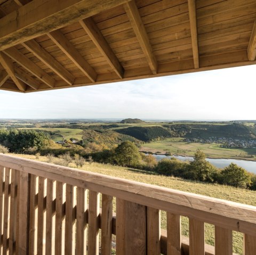
[[[69,140],[70,138],[75,138],[77,140],[82,139],[81,132],[82,129],[74,129],[74,128],[26,128],[26,129],[36,129],[36,130],[45,130],[52,133],[55,133],[54,135],[51,135],[51,139],[53,139],[54,142],[62,141],[62,137],[66,140]]]

